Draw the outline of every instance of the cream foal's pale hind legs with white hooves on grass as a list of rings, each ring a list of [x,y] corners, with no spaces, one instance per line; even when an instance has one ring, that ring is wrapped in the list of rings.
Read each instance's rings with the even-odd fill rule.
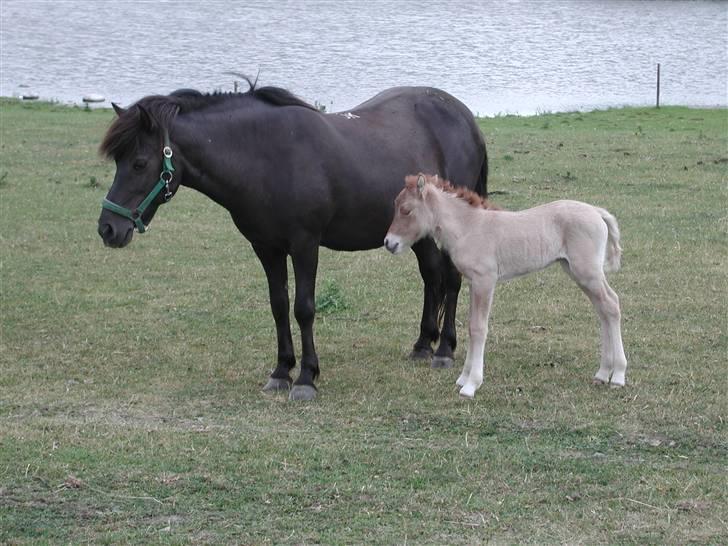
[[[564,264],[564,269],[587,295],[599,317],[602,354],[594,382],[611,382],[612,385],[624,386],[627,358],[622,344],[621,311],[617,294],[607,283],[601,264],[587,268]]]

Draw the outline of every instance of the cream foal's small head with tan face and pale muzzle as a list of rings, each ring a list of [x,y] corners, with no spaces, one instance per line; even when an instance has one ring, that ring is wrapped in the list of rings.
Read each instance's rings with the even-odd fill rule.
[[[384,238],[384,247],[400,254],[432,231],[434,218],[425,201],[427,178],[420,173],[405,178],[404,189],[394,200],[394,220]]]

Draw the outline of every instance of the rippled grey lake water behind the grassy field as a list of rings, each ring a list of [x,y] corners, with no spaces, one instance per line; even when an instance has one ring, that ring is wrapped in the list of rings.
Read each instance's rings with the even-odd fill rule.
[[[474,113],[728,104],[721,1],[2,0],[0,95],[129,105],[234,76],[331,110],[431,85]],[[245,86],[243,86],[245,88]],[[108,102],[106,103],[108,105]]]

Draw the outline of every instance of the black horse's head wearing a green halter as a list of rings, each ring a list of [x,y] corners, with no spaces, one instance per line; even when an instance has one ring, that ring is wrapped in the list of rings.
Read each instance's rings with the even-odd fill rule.
[[[127,110],[113,105],[112,123],[100,151],[116,162],[116,175],[102,202],[99,235],[106,246],[131,242],[134,228],[144,233],[157,208],[169,201],[179,184],[172,183],[172,147],[165,121],[150,115],[140,103]],[[176,113],[176,112],[175,112]]]

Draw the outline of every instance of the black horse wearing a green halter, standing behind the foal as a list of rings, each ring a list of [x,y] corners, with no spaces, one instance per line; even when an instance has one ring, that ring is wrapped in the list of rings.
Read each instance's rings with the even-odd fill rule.
[[[290,398],[310,400],[319,374],[313,338],[319,246],[381,246],[409,173],[438,173],[485,195],[485,143],[465,105],[438,89],[393,88],[349,112],[323,114],[284,89],[248,83],[245,93],[183,89],[145,97],[126,110],[114,105],[118,118],[100,152],[115,160],[116,176],[98,231],[107,246],[127,245],[134,227],[143,232],[180,185],[225,207],[268,279],[278,362],[266,390],[291,388],[296,364],[290,255],[302,344]],[[446,366],[455,349],[461,277],[431,239],[413,250],[425,288],[411,356],[432,357],[431,344],[439,338],[433,367]]]

